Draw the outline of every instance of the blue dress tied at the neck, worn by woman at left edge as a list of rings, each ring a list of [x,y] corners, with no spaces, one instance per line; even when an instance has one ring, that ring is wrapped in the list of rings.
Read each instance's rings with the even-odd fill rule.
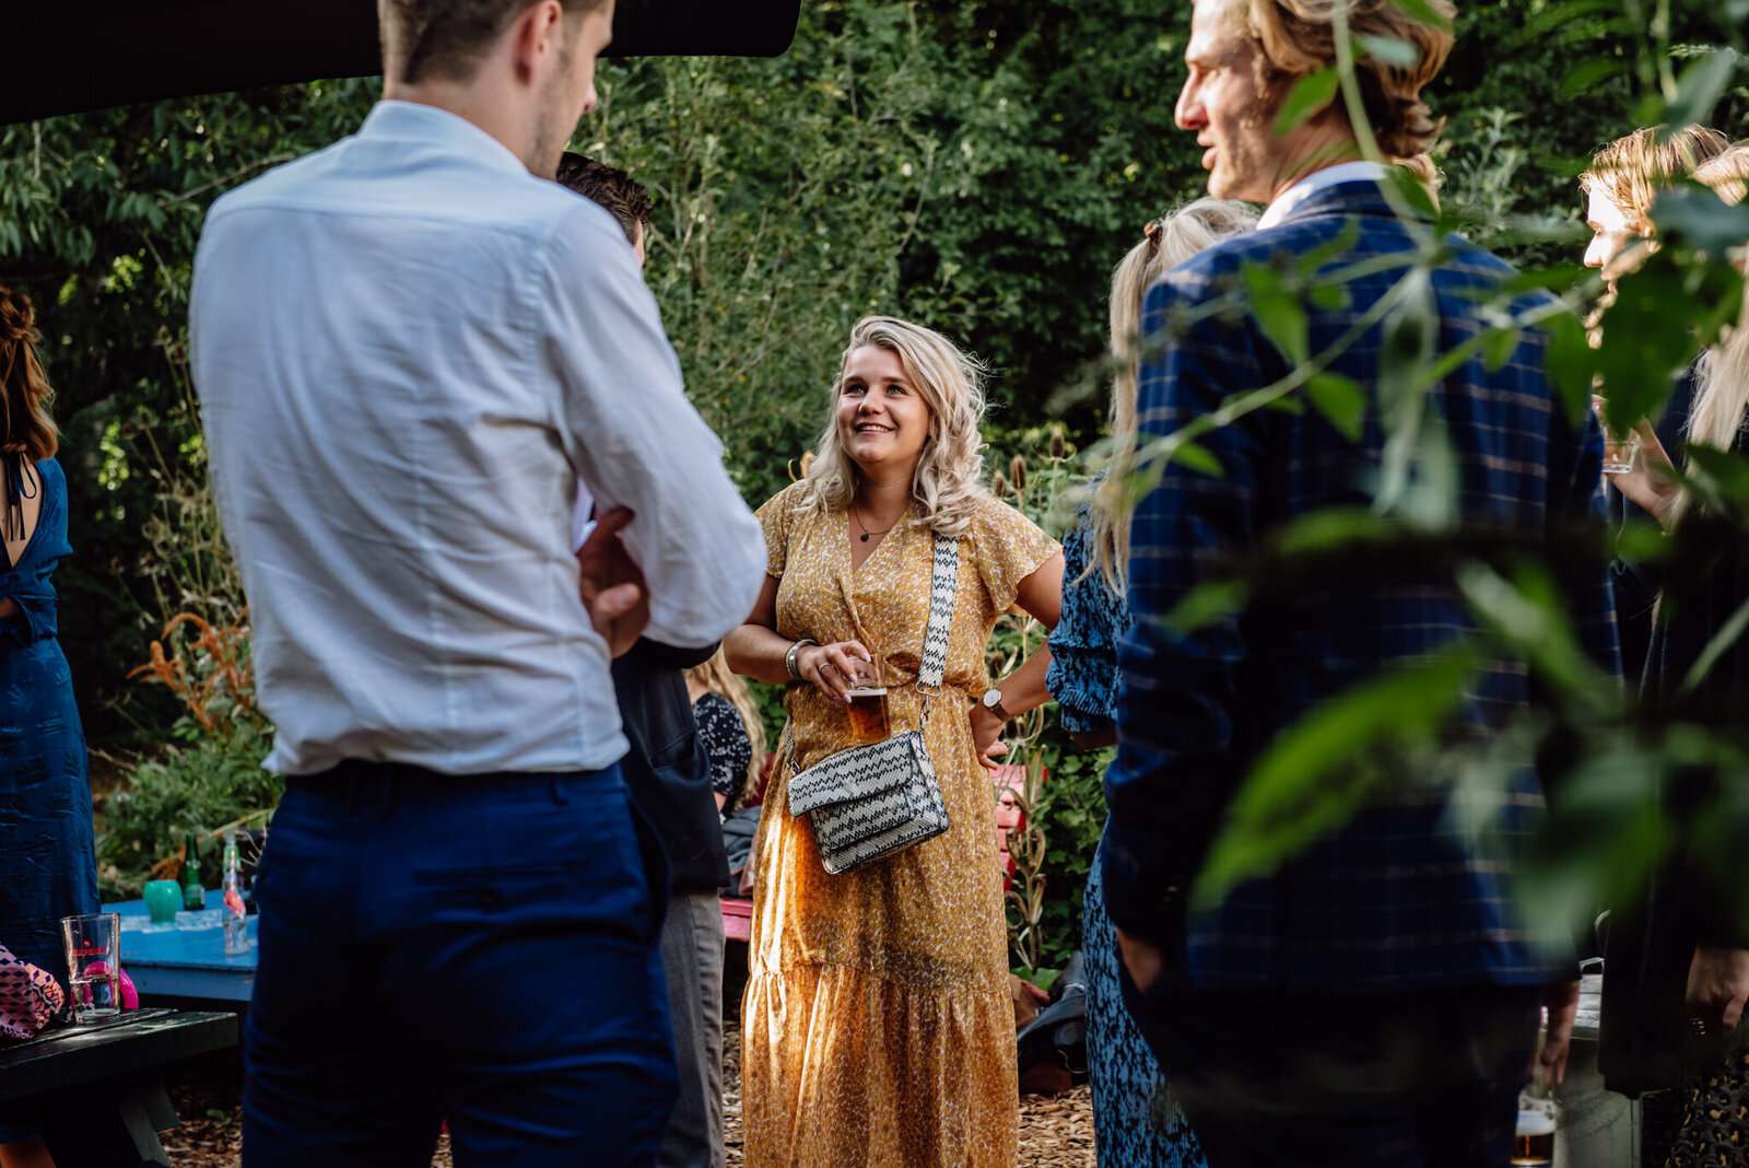
[[[0,619],[0,942],[66,984],[61,918],[98,911],[86,734],[72,675],[54,638],[54,565],[66,542],[66,477],[37,463],[37,530],[9,563],[0,549],[0,596],[19,612]],[[0,455],[0,509],[31,486],[16,455]],[[0,1142],[5,1130],[0,1128]]]

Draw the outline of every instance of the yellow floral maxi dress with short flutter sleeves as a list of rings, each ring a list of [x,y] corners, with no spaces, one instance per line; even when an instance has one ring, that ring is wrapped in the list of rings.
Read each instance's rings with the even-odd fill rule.
[[[782,577],[777,631],[885,652],[890,724],[916,726],[932,533],[902,519],[852,572],[845,514],[798,511],[798,500],[799,484],[759,509],[768,572]],[[960,539],[946,680],[925,733],[946,834],[831,876],[808,818],[789,815],[789,764],[771,780],[742,1007],[749,1168],[1011,1168],[1018,1158],[995,801],[969,706],[988,685],[995,619],[1055,553],[993,498]],[[845,706],[813,685],[791,685],[787,710],[798,768],[855,745]]]

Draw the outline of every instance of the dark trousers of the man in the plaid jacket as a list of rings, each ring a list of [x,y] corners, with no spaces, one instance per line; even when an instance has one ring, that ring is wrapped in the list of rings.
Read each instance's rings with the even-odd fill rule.
[[[1536,1047],[1520,986],[1125,1002],[1210,1168],[1506,1168]]]

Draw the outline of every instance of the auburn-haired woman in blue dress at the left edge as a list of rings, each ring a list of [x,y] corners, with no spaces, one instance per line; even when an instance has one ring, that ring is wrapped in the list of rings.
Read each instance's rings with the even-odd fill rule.
[[[86,736],[54,640],[49,574],[66,544],[49,381],[30,299],[0,289],[0,942],[66,984],[61,918],[98,911]],[[0,1126],[0,1168],[47,1165]]]

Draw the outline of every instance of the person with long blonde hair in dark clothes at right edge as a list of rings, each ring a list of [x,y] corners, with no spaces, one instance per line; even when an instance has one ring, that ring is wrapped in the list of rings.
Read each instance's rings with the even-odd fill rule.
[[[1749,187],[1749,142],[1702,163],[1695,180],[1726,203],[1740,203]],[[1735,262],[1742,266],[1744,257]],[[1737,325],[1693,364],[1691,376],[1695,393],[1683,441],[1749,455],[1749,302]],[[1634,434],[1639,458],[1632,469],[1611,474],[1611,483],[1665,532],[1695,528],[1686,532],[1691,539],[1674,544],[1663,565],[1641,701],[1658,722],[1698,722],[1730,733],[1749,708],[1749,640],[1737,636],[1698,678],[1691,675],[1714,636],[1749,603],[1749,547],[1740,526],[1693,505],[1667,474],[1672,458],[1649,423],[1641,421]],[[1711,852],[1723,853],[1730,848],[1719,841],[1742,838],[1742,825],[1707,815],[1716,792],[1718,778],[1702,766],[1669,776],[1662,794],[1677,843],[1646,897],[1611,914],[1599,1046],[1606,1082],[1628,1095],[1684,1088],[1676,1096],[1683,1114],[1670,1119],[1676,1131],[1669,1159],[1656,1147],[1646,1163],[1719,1163],[1721,1151],[1749,1142],[1742,1119],[1749,1105],[1744,873],[1740,866],[1716,871],[1690,846],[1695,834],[1711,832]],[[1648,1103],[1648,1131],[1665,1126],[1651,1121],[1658,1110]]]

